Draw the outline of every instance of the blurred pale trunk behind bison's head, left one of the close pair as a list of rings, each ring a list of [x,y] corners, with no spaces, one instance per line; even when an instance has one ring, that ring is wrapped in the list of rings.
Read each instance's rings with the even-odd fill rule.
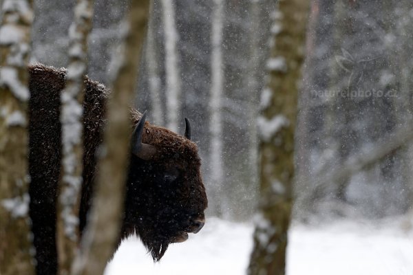
[[[151,0],[151,12],[153,14],[154,0]],[[151,95],[151,115],[153,122],[157,125],[163,125],[162,101],[160,100],[160,75],[158,69],[158,58],[156,50],[156,25],[153,17],[149,17],[148,36],[146,47],[146,60],[148,66],[149,94]]]

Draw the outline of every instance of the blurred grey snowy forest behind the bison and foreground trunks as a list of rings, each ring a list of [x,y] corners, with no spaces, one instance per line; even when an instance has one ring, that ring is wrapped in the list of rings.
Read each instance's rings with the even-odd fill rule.
[[[95,2],[88,75],[107,84],[127,1]],[[32,62],[65,67],[74,1],[34,3]],[[277,32],[272,25],[275,1],[173,3],[153,2],[136,106],[149,111],[151,122],[171,128],[176,125],[170,114],[176,113],[178,132],[189,118],[203,159],[209,214],[249,219],[257,206],[260,129],[255,120],[268,101],[263,87],[268,38]],[[376,142],[399,129],[412,127],[413,3],[313,0],[309,22],[296,136],[295,218],[306,219],[309,213],[379,218],[409,211],[411,143],[354,175],[335,178],[322,192],[317,179],[340,170],[354,155],[374,151]],[[211,73],[217,42],[213,30],[222,43],[218,80]],[[171,52],[172,61],[165,58]],[[222,94],[213,98],[215,81],[222,82]],[[179,98],[173,106],[167,104],[171,89],[178,90]]]

